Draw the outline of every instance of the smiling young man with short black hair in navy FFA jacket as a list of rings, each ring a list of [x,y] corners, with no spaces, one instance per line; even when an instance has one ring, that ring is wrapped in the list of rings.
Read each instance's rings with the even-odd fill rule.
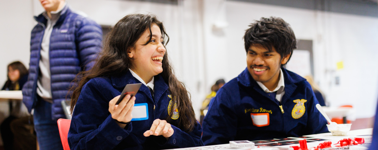
[[[328,132],[310,84],[282,67],[296,48],[290,25],[270,17],[250,27],[244,35],[247,67],[210,102],[204,144]]]

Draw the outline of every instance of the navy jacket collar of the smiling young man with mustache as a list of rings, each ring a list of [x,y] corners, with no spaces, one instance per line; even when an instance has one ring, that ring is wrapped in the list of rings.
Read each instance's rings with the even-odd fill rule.
[[[281,99],[281,103],[283,104],[287,101],[288,98],[290,98],[291,94],[293,94],[294,90],[297,88],[296,84],[299,82],[305,81],[306,79],[302,78],[301,76],[291,71],[286,70],[283,67],[281,69],[282,69],[283,77],[285,80],[285,94],[283,95]],[[242,73],[240,73],[240,75],[237,77],[237,81],[243,86],[252,87],[260,94],[266,96],[269,99],[272,99],[270,96],[268,96],[267,93],[263,91],[263,89],[261,89],[259,84],[257,84],[256,80],[253,79],[253,77],[248,71],[248,68],[245,68],[245,70]]]

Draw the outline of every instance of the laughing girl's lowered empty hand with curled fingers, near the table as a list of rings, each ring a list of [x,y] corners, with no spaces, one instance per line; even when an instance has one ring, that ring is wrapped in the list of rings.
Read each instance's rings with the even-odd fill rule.
[[[147,130],[143,133],[144,136],[150,136],[150,135],[163,135],[167,140],[170,136],[172,136],[174,133],[174,130],[170,126],[169,123],[165,120],[156,119],[153,121],[152,126],[150,130]]]

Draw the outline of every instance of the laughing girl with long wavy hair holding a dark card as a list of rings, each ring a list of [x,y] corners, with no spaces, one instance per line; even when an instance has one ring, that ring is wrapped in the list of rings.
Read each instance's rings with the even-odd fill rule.
[[[92,69],[73,91],[71,150],[171,149],[202,146],[191,99],[167,59],[169,37],[154,15],[119,20]],[[115,105],[127,84],[143,83]],[[132,120],[134,104],[147,117]]]

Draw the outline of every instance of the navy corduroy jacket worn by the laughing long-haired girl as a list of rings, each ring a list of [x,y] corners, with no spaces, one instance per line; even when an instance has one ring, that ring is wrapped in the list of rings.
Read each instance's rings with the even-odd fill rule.
[[[148,119],[131,121],[122,129],[108,111],[109,101],[121,94],[126,84],[141,83],[130,71],[119,77],[93,78],[86,83],[77,100],[68,132],[71,150],[135,150],[171,149],[203,146],[201,125],[197,122],[189,133],[179,129],[178,118],[169,122],[174,134],[166,140],[163,136],[143,136],[155,119],[168,117],[170,98],[168,85],[160,75],[154,78],[154,98],[150,90],[142,84],[135,95],[135,105],[147,103]],[[173,102],[171,102],[172,104]]]

